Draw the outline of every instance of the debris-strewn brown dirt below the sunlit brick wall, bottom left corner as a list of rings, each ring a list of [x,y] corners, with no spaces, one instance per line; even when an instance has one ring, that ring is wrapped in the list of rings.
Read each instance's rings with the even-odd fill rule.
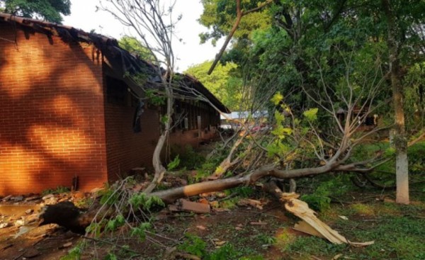
[[[74,200],[71,193],[49,196],[8,196],[0,200],[0,259],[60,259],[79,235],[57,225],[39,226],[46,204]]]

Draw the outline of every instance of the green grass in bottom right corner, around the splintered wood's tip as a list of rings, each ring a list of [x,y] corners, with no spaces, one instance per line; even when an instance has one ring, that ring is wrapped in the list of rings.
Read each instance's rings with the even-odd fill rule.
[[[373,240],[375,244],[350,247],[330,244],[317,237],[280,234],[275,245],[283,252],[280,259],[312,259],[313,256],[332,259],[338,254],[352,259],[425,259],[425,203],[417,200],[421,198],[422,189],[416,186],[414,191],[420,192],[414,194],[419,196],[412,198],[411,205],[371,200],[368,203],[332,204],[331,208],[319,213],[319,218],[326,219],[327,224],[351,241]],[[348,220],[340,216],[346,216]]]

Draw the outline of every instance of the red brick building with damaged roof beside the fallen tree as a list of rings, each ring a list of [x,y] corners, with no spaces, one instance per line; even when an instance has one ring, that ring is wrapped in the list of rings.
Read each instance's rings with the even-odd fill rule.
[[[75,177],[89,191],[151,166],[160,108],[139,103],[143,91],[123,77],[143,69],[152,65],[114,39],[0,13],[0,195],[70,187]],[[183,80],[228,112],[196,79]],[[182,120],[170,145],[215,135],[220,116],[208,103],[185,98],[174,110]]]

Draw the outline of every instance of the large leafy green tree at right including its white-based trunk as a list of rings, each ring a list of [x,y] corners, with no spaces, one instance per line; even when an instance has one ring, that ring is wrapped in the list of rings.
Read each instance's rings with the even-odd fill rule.
[[[230,9],[237,3],[229,1],[225,4],[220,0],[215,2],[219,3],[216,8],[217,17],[220,17],[221,9]],[[369,69],[368,66],[373,66],[373,62],[366,64],[361,59],[370,57],[371,53],[378,59],[376,62],[388,60],[388,66],[383,69],[389,72],[387,82],[388,87],[392,88],[397,132],[395,148],[399,203],[409,202],[407,136],[402,98],[407,86],[404,86],[403,79],[410,67],[423,62],[424,5],[425,2],[420,0],[274,1],[263,10],[270,17],[271,27],[257,29],[249,34],[248,47],[244,47],[244,52],[239,51],[244,58],[233,60],[238,64],[242,60],[248,60],[254,74],[266,70],[267,74],[258,74],[257,77],[271,75],[268,79],[270,82],[279,81],[281,91],[289,96],[287,102],[301,112],[314,106],[312,100],[317,96],[312,93],[322,77],[332,89],[329,95],[338,94],[339,77],[346,73],[347,59],[356,60],[356,69]],[[207,12],[209,9],[205,10],[204,16],[211,17]],[[229,26],[225,25],[232,24],[235,17],[237,16],[233,13],[222,19],[200,21],[212,28],[227,28],[228,33]],[[221,35],[225,33],[226,31]],[[244,39],[237,33],[234,33],[234,37],[238,42]],[[240,47],[241,45],[233,45],[232,50],[227,52],[228,55],[237,52],[238,48],[242,50]],[[354,59],[356,57],[358,59]],[[320,72],[317,71],[317,64],[321,67]],[[382,74],[381,77],[387,76]],[[303,86],[302,91],[300,86]],[[264,84],[264,88],[267,88],[267,84]],[[382,92],[376,98],[385,101],[390,97],[388,94],[388,91]],[[307,95],[312,98],[307,99]]]

